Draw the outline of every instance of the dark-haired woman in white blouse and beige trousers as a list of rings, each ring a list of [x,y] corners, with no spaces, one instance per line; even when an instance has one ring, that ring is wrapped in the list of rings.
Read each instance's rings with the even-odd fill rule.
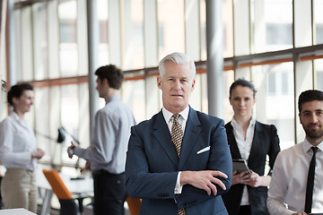
[[[5,209],[24,208],[37,212],[36,172],[44,151],[37,149],[31,125],[24,118],[33,105],[33,88],[14,85],[7,95],[13,111],[0,124],[0,160],[6,172],[1,184]]]

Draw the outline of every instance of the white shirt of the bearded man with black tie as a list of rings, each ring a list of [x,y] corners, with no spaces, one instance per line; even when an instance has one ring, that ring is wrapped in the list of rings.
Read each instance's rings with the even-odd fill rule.
[[[268,191],[267,207],[270,214],[291,215],[304,211],[307,177],[312,145],[306,139],[275,159],[275,166]],[[311,212],[323,212],[323,143],[318,145]]]

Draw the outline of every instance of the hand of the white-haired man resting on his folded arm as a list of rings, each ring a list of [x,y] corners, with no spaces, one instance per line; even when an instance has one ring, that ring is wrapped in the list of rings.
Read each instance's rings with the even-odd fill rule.
[[[215,185],[219,185],[223,190],[226,190],[226,187],[223,182],[215,176],[228,177],[223,172],[215,170],[183,171],[180,174],[180,185],[193,185],[196,188],[205,190],[208,195],[212,192],[216,195],[217,189]]]

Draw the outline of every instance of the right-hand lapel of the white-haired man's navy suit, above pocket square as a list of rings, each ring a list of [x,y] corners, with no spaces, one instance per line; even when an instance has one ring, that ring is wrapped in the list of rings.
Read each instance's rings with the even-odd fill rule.
[[[182,141],[179,157],[179,169],[182,169],[190,151],[193,149],[196,140],[201,133],[201,123],[196,115],[196,111],[189,107],[188,121],[185,128],[185,133]]]

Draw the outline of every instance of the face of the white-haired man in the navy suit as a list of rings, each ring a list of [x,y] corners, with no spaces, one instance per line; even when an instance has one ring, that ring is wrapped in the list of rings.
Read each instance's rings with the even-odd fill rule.
[[[190,76],[189,64],[166,62],[165,74],[157,79],[162,90],[163,107],[178,114],[188,107],[189,93],[194,90],[195,80]]]

